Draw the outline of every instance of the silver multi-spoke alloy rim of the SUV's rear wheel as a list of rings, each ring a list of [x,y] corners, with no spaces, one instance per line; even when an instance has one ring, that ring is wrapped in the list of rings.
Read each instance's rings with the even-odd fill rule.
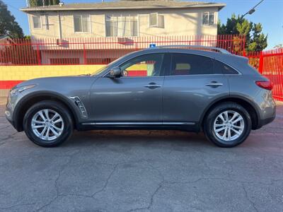
[[[221,112],[214,120],[214,133],[223,141],[233,141],[243,134],[245,122],[241,114],[233,110]]]

